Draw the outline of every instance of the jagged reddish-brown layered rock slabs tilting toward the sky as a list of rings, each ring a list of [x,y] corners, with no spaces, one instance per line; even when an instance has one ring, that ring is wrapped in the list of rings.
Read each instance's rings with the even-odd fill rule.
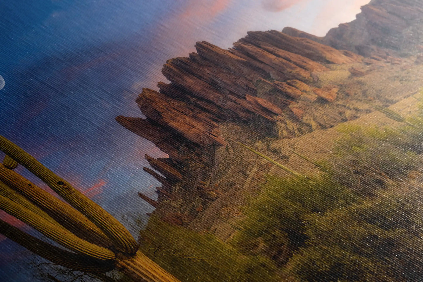
[[[158,83],[159,91],[144,88],[136,100],[146,119],[116,120],[181,162],[182,145],[188,150],[225,146],[219,130],[222,121],[255,125],[256,131],[277,136],[278,116],[292,113],[292,108],[298,115],[297,100],[334,100],[316,88],[314,72],[329,71],[324,64],[362,59],[275,30],[249,33],[233,46],[223,50],[198,42],[197,53],[168,60],[162,73],[171,83]],[[308,85],[313,90],[305,91]],[[176,177],[171,165],[153,162],[155,169]]]

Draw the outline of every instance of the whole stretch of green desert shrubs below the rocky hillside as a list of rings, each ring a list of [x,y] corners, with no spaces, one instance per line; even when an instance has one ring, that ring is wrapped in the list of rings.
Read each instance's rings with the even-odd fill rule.
[[[184,281],[421,280],[422,120],[344,127],[330,158],[298,154],[321,170],[313,177],[280,165],[291,175],[267,176],[226,242],[152,217],[141,249]]]

